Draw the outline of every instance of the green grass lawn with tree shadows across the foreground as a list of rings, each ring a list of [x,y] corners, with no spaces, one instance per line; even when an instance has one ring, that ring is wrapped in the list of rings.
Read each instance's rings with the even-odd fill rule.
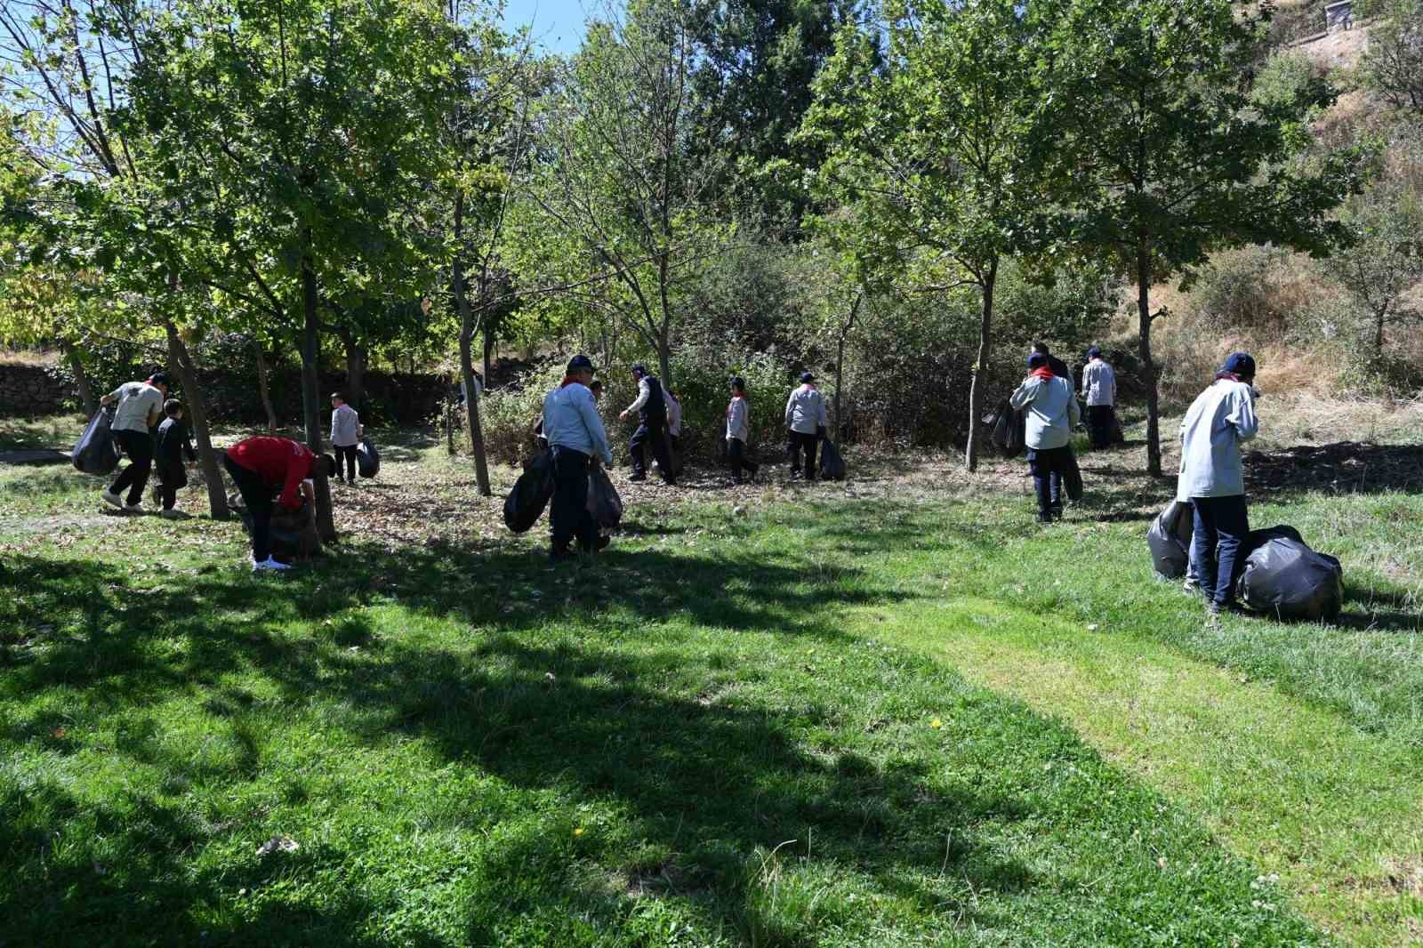
[[[1387,478],[1252,508],[1343,559],[1338,625],[1212,631],[1130,451],[1047,531],[1020,465],[619,474],[622,535],[554,569],[384,444],[282,576],[0,467],[0,945],[1423,944]]]

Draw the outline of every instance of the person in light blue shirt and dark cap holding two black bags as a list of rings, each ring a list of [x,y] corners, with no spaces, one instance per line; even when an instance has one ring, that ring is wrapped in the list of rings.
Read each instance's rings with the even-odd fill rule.
[[[610,467],[613,463],[603,420],[588,389],[592,380],[592,360],[573,356],[562,384],[544,399],[544,437],[554,455],[549,559],[555,562],[573,555],[569,547],[575,537],[582,552],[595,552],[610,542],[609,537],[599,535],[598,521],[588,511],[589,464],[602,461]]]

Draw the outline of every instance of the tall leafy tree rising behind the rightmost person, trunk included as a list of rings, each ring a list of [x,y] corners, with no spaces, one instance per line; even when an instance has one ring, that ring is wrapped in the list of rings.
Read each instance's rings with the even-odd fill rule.
[[[1229,0],[1070,0],[1044,60],[1059,110],[1052,154],[1067,201],[1063,231],[1136,283],[1155,475],[1151,326],[1163,313],[1151,310],[1151,286],[1221,246],[1325,255],[1345,236],[1328,215],[1358,186],[1350,155],[1291,161],[1306,144],[1301,118],[1332,97],[1328,87],[1251,97],[1261,28]]]

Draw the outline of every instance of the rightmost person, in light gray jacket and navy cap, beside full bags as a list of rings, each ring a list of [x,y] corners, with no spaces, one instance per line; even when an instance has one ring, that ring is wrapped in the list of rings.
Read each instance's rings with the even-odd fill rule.
[[[1255,359],[1244,352],[1232,354],[1181,421],[1177,500],[1195,508],[1191,559],[1211,622],[1235,608],[1235,582],[1245,568],[1249,512],[1241,443],[1259,431],[1254,381]]]

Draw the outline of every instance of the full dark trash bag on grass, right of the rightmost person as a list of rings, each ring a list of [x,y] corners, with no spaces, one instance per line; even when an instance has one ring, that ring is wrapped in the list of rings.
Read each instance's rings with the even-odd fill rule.
[[[1291,527],[1251,534],[1251,554],[1235,586],[1247,609],[1281,622],[1332,622],[1343,609],[1343,567],[1315,552]]]

